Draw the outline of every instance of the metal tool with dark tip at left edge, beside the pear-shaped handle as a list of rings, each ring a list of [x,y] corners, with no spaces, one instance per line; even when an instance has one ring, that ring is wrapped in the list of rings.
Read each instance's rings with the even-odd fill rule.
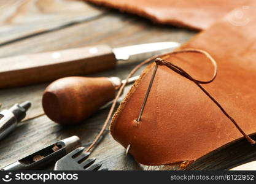
[[[31,107],[31,102],[26,101],[0,112],[0,140],[12,132],[17,124],[26,117],[29,107]]]

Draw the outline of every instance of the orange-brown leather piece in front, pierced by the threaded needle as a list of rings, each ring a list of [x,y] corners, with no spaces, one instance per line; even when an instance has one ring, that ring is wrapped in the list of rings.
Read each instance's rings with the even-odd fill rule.
[[[232,12],[231,12],[232,13]],[[212,83],[202,85],[233,117],[246,134],[256,132],[256,17],[252,6],[244,10],[243,26],[229,15],[182,45],[209,52],[217,61]],[[213,67],[204,55],[179,53],[162,56],[182,67],[195,79],[211,78]],[[150,64],[118,108],[111,134],[127,147],[136,161],[160,165],[195,161],[242,137],[233,123],[192,81],[158,66],[155,80],[138,118],[155,63]],[[249,142],[248,142],[249,144]]]

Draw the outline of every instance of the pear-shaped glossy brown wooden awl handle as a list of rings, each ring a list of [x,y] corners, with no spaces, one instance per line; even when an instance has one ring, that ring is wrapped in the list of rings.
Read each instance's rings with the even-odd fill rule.
[[[74,125],[114,97],[115,86],[106,77],[65,77],[45,89],[42,107],[56,123]]]

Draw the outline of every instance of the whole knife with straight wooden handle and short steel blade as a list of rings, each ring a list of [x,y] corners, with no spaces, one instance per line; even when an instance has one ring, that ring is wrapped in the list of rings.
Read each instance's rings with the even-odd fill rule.
[[[0,59],[0,88],[48,82],[61,77],[114,69],[117,61],[143,61],[179,47],[177,42],[155,42],[111,48],[108,45],[71,48],[55,52]]]

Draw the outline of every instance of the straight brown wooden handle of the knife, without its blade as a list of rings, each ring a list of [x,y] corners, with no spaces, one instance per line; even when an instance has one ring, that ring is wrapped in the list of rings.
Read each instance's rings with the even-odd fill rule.
[[[0,88],[106,71],[114,68],[115,64],[115,55],[107,45],[2,58]]]

